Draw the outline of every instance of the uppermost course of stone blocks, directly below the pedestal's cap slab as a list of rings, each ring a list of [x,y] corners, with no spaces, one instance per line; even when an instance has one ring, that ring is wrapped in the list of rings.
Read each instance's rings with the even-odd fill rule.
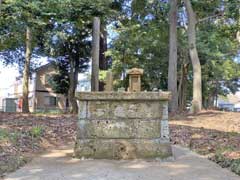
[[[80,119],[160,119],[163,103],[159,101],[88,101],[79,103]]]

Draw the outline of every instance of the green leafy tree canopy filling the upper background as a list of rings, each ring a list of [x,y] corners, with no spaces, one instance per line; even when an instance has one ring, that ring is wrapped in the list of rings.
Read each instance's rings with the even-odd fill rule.
[[[187,1],[177,2],[177,96],[183,110],[193,100],[194,68],[188,51],[192,47],[188,44]],[[240,4],[235,0],[189,2],[196,15],[202,100],[207,108],[219,95],[235,93],[240,86]],[[101,19],[100,58],[108,57],[115,88],[127,87],[126,70],[140,67],[144,90],[167,90],[169,12],[169,0],[4,0],[0,57],[5,64],[18,63],[24,68],[29,27],[31,59],[42,55],[54,59],[58,74],[52,77],[52,86],[66,94],[76,87],[76,74],[86,70],[91,60],[92,20],[97,16]],[[34,61],[30,66],[34,67]]]

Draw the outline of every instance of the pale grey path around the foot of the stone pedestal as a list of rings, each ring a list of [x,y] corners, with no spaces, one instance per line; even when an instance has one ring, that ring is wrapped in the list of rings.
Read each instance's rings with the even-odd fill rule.
[[[112,161],[71,158],[72,148],[54,150],[5,180],[240,180],[227,169],[187,149],[173,147],[174,160]]]

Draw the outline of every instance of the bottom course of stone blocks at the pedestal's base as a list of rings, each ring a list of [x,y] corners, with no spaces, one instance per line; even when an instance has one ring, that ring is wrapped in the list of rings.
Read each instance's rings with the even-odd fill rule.
[[[169,143],[161,139],[85,139],[77,140],[75,156],[95,159],[166,158],[172,155]]]

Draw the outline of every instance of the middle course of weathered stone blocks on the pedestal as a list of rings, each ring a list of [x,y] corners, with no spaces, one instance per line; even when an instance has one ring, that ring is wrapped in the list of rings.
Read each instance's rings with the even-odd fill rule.
[[[160,120],[79,120],[79,139],[160,138]]]

